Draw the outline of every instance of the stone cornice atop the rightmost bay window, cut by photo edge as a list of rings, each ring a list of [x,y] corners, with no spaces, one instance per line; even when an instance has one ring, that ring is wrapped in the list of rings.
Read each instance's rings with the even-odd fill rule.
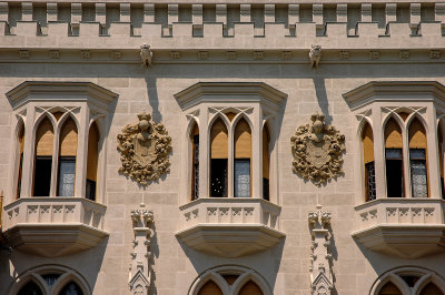
[[[435,81],[372,81],[343,94],[355,110],[373,102],[434,101],[445,102],[445,87]]]

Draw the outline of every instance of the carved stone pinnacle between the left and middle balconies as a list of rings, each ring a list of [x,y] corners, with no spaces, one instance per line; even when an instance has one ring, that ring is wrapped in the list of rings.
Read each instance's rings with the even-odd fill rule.
[[[154,231],[150,228],[154,222],[154,213],[151,210],[145,208],[145,204],[140,204],[139,208],[131,210],[132,230],[135,238],[131,241],[132,251],[130,252],[130,294],[141,295],[148,294],[151,282],[151,260],[150,242]]]

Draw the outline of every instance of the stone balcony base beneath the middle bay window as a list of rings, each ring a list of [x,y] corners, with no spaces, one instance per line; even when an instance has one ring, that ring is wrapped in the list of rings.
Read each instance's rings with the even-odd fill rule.
[[[274,247],[281,208],[261,199],[209,197],[179,207],[178,240],[187,246],[221,257],[240,257]]]

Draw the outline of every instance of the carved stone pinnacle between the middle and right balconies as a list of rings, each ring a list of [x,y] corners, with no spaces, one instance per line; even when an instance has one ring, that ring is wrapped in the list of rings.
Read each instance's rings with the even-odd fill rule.
[[[330,295],[334,288],[333,276],[330,269],[330,234],[328,231],[330,224],[330,213],[322,211],[322,205],[317,205],[317,210],[308,214],[312,234],[312,265],[310,287],[313,295]]]

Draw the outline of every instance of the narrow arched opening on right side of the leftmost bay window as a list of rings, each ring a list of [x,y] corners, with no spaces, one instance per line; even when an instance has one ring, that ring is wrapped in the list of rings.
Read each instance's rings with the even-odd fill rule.
[[[88,162],[87,162],[87,182],[85,196],[91,201],[96,201],[97,194],[97,170],[99,161],[99,130],[96,122],[91,124],[88,131]]]

